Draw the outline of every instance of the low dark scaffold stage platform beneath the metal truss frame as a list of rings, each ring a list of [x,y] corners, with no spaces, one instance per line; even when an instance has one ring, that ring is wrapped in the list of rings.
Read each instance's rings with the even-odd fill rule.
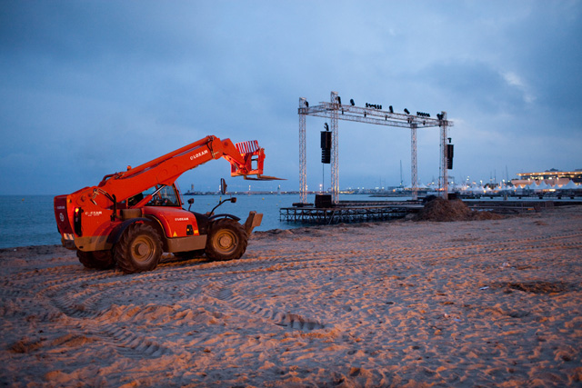
[[[279,209],[279,220],[301,224],[340,224],[384,221],[418,212],[419,202],[340,201],[332,207],[296,204]]]

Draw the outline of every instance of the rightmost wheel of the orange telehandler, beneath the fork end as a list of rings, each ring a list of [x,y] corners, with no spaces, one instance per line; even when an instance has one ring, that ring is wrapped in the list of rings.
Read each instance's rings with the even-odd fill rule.
[[[210,260],[236,260],[245,254],[248,236],[243,225],[229,218],[221,218],[209,230],[206,256]]]

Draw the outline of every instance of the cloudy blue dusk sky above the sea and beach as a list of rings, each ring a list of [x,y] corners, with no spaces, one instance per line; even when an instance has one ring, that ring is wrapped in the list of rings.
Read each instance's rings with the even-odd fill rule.
[[[580,1],[0,4],[0,194],[66,194],[207,134],[266,148],[298,189],[299,97],[447,111],[457,181],[582,168]],[[326,119],[307,117],[307,183]],[[438,130],[418,176],[438,178]],[[410,183],[410,133],[339,122],[339,185]],[[216,189],[225,160],[182,188]],[[228,178],[231,190],[248,182]]]

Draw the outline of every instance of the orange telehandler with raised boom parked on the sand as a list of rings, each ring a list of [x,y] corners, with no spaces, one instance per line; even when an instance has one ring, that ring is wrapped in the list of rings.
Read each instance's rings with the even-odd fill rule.
[[[250,212],[245,224],[232,214],[214,214],[219,205],[236,198],[220,201],[206,214],[190,212],[189,207],[186,211],[176,187],[181,174],[221,157],[231,164],[231,176],[277,179],[263,175],[265,150],[256,141],[233,144],[206,136],[146,164],[105,175],[96,186],[55,196],[62,244],[76,250],[85,267],[117,264],[125,274],[153,270],[163,252],[181,257],[206,254],[210,260],[240,258],[263,214]]]

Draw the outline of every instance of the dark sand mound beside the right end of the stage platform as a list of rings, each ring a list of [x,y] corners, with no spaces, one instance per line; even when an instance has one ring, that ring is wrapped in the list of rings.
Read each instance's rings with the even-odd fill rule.
[[[425,204],[425,207],[417,214],[416,221],[451,222],[497,220],[500,218],[503,218],[500,214],[475,212],[459,199],[448,201],[437,197]]]

